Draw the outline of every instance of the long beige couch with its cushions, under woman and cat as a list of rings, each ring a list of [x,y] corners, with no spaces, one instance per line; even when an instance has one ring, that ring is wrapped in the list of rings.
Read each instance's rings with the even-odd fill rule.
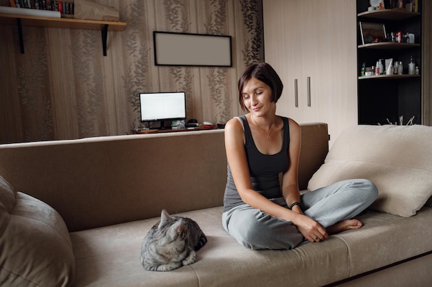
[[[380,196],[362,229],[291,251],[222,228],[222,130],[0,145],[0,285],[431,286],[431,142],[430,127],[358,126],[327,154],[327,126],[302,125],[302,189],[362,177]],[[195,264],[141,266],[161,209],[206,233]]]

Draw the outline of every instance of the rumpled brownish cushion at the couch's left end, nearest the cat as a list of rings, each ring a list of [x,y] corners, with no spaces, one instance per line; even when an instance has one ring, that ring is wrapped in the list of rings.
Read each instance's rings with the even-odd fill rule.
[[[0,176],[0,285],[70,286],[75,258],[66,224],[48,204]]]

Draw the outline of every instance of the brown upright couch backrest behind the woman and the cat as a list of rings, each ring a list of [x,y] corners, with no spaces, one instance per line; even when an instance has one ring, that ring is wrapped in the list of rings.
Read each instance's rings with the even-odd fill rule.
[[[326,156],[326,124],[302,125],[300,186]],[[224,131],[0,145],[0,175],[54,207],[69,231],[221,206]]]

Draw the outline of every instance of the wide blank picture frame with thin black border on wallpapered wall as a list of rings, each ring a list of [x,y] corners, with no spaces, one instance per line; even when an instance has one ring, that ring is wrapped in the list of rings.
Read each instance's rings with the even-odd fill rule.
[[[232,67],[231,36],[153,32],[155,65]]]

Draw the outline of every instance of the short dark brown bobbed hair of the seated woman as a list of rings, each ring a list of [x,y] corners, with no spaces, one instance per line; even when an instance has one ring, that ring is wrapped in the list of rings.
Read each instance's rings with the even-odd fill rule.
[[[284,85],[271,65],[268,63],[257,63],[247,67],[239,78],[239,103],[244,111],[246,111],[246,107],[243,101],[243,87],[251,78],[257,78],[259,81],[266,83],[271,88],[272,102],[277,103],[277,100],[282,95]]]

